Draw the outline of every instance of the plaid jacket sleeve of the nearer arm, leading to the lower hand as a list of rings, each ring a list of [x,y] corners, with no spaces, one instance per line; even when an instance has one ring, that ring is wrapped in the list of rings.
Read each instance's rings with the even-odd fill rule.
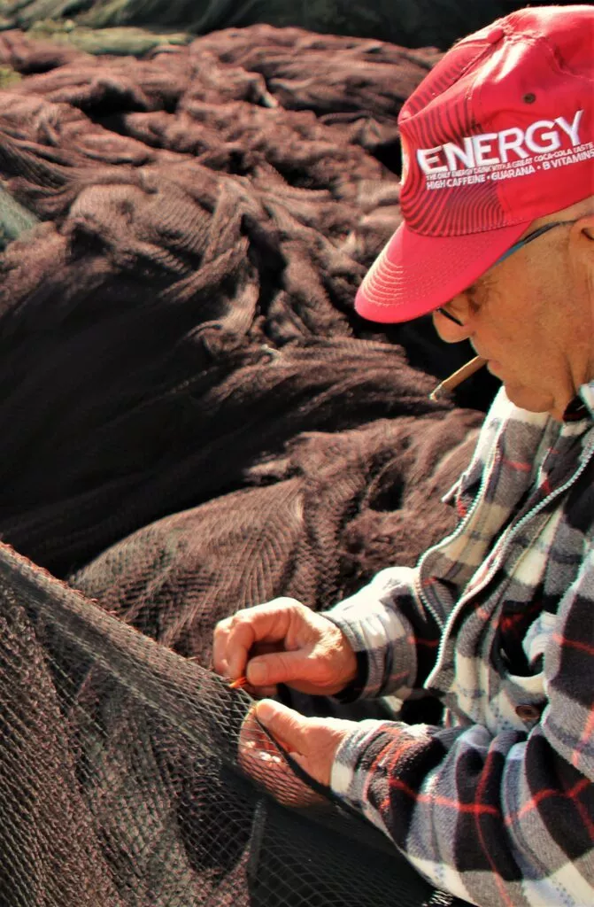
[[[534,727],[361,722],[331,785],[437,887],[481,905],[594,903],[594,556],[563,596]]]

